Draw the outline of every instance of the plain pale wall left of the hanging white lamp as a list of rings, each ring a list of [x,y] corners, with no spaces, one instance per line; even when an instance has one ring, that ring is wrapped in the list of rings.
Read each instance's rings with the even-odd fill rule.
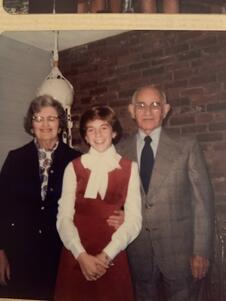
[[[49,72],[49,52],[0,35],[0,168],[9,150],[31,140],[23,119]]]

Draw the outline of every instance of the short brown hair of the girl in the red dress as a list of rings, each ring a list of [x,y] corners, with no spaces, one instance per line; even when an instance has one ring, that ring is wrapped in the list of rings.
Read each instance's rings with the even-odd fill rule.
[[[122,136],[122,127],[115,114],[115,111],[107,105],[93,106],[90,109],[86,110],[82,114],[81,119],[80,119],[79,130],[80,130],[80,135],[83,138],[83,140],[85,141],[88,122],[94,121],[97,119],[107,121],[110,124],[113,132],[116,133],[116,136],[115,136],[115,138],[112,139],[112,142],[114,144],[117,143]]]

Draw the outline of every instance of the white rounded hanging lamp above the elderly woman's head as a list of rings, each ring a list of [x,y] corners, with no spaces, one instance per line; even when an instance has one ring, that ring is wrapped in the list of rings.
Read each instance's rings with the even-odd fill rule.
[[[37,96],[50,95],[58,100],[64,108],[73,103],[74,89],[71,83],[62,75],[59,68],[54,66],[37,91]]]

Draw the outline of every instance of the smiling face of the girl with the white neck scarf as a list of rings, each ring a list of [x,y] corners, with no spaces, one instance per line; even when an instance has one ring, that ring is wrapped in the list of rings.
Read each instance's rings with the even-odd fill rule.
[[[105,120],[96,119],[86,125],[86,142],[98,152],[107,150],[115,136],[111,125]]]

